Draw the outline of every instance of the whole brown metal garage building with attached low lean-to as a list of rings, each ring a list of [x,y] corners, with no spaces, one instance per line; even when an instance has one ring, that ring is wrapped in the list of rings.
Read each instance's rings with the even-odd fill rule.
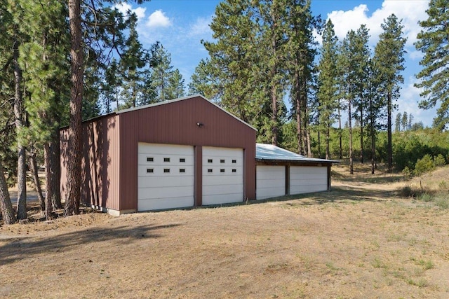
[[[60,132],[62,198],[67,196],[67,132],[67,128]],[[201,95],[87,120],[83,122],[81,201],[119,215],[323,190],[323,180],[328,190],[330,161],[303,161],[307,164],[303,165],[257,158],[255,138],[254,127]],[[267,151],[269,146],[257,148]],[[276,176],[268,180],[279,185],[273,193],[257,188],[261,195],[256,195],[256,161],[260,186],[266,183],[263,178]],[[295,179],[304,170],[297,165],[325,165],[326,172],[319,169],[314,176],[319,178],[318,186],[304,189],[307,183]]]

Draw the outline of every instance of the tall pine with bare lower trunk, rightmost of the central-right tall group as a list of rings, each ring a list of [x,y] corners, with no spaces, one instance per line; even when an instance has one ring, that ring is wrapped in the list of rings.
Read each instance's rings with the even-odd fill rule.
[[[393,142],[391,134],[391,114],[394,110],[394,100],[399,97],[400,84],[403,83],[404,66],[404,46],[407,39],[403,37],[403,25],[396,15],[390,15],[381,25],[384,30],[380,34],[380,40],[375,46],[375,65],[378,68],[380,93],[386,99],[387,109],[387,151],[388,151],[388,172],[391,173],[393,167]]]

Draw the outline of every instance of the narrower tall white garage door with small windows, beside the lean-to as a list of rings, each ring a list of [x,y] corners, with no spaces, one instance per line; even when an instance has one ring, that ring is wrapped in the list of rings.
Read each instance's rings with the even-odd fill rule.
[[[203,205],[243,201],[243,149],[203,147]]]

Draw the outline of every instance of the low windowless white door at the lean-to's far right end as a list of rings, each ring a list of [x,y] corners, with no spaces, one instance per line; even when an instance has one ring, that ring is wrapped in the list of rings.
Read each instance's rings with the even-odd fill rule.
[[[328,167],[290,167],[290,194],[326,190],[328,190]]]

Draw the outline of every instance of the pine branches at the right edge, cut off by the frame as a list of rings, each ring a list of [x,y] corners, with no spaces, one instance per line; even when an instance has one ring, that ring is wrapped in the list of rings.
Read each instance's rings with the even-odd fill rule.
[[[441,102],[434,124],[442,130],[449,123],[449,1],[431,0],[426,11],[429,18],[421,21],[415,47],[424,53],[416,74],[422,88],[420,108],[430,109]]]

